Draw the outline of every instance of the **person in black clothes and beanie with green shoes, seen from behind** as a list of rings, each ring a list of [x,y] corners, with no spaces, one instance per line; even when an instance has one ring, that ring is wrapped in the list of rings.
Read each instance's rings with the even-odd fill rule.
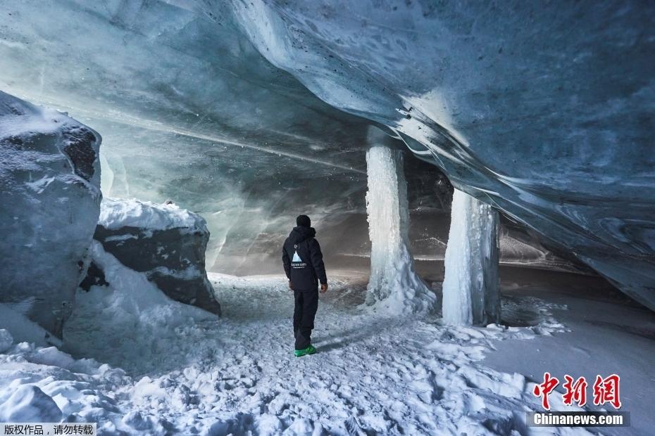
[[[289,279],[289,288],[294,291],[294,355],[314,354],[311,345],[311,331],[318,309],[318,284],[320,293],[328,290],[323,253],[316,241],[316,230],[311,227],[307,215],[299,215],[296,226],[289,233],[282,246],[282,264]]]

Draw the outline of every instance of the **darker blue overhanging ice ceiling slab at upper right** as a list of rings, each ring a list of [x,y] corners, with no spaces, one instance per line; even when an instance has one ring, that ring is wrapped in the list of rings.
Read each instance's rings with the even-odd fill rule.
[[[211,6],[201,6],[204,10]],[[655,8],[254,1],[259,51],[655,308]]]

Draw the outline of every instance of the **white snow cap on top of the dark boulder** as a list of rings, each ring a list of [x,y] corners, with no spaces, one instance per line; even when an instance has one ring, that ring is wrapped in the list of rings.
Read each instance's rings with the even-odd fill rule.
[[[149,230],[187,229],[190,233],[207,231],[206,222],[199,214],[174,204],[151,203],[136,198],[104,198],[98,224],[110,230],[139,227]]]

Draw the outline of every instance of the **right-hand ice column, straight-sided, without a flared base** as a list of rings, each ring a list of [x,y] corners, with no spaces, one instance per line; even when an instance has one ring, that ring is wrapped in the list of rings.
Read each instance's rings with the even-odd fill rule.
[[[486,325],[500,320],[498,212],[455,189],[446,247],[444,322]]]

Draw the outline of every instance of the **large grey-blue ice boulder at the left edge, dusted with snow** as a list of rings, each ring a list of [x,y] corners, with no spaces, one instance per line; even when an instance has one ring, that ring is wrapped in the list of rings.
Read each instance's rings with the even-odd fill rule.
[[[0,302],[61,336],[100,212],[100,135],[0,91]]]

